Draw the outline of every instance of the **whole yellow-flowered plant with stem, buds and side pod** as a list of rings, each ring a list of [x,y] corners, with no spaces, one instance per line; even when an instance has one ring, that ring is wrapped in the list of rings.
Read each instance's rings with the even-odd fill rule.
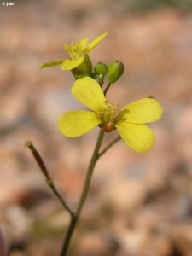
[[[163,109],[160,103],[153,98],[143,98],[136,102],[131,102],[125,107],[117,111],[118,104],[109,103],[106,98],[111,84],[115,83],[124,73],[124,65],[120,61],[112,61],[108,66],[103,62],[98,62],[94,69],[88,54],[94,49],[107,33],[103,33],[95,40],[87,44],[89,38],[79,40],[76,44],[65,44],[65,49],[70,55],[70,59],[62,59],[58,61],[46,62],[42,67],[51,67],[61,65],[61,69],[72,71],[76,81],[72,86],[72,94],[79,102],[83,103],[88,110],[73,110],[63,113],[58,119],[59,130],[66,137],[79,137],[86,132],[91,131],[96,126],[99,135],[96,140],[96,147],[90,158],[90,164],[87,168],[84,187],[79,198],[79,204],[75,211],[67,206],[66,201],[62,198],[58,190],[55,188],[52,178],[44,165],[40,154],[34,148],[32,142],[26,142],[26,146],[31,149],[38,166],[46,177],[46,182],[50,189],[61,201],[62,206],[70,214],[71,221],[67,229],[67,234],[61,249],[61,256],[67,255],[68,247],[79,220],[79,215],[84,206],[84,201],[89,192],[90,180],[96,161],[100,159],[102,154],[122,139],[128,147],[137,152],[146,152],[154,145],[154,131],[148,125],[160,119]],[[103,89],[103,84],[108,74],[108,84]],[[113,139],[106,148],[101,150],[102,140],[106,132],[117,130],[118,137]]]

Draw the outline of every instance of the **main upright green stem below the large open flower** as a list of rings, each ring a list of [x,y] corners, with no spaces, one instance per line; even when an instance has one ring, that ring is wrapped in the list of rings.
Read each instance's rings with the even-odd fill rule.
[[[80,212],[81,212],[81,210],[84,206],[84,201],[86,200],[86,197],[87,197],[88,192],[89,192],[90,179],[92,177],[94,167],[96,166],[96,161],[99,158],[99,149],[102,145],[103,137],[104,137],[104,131],[100,130],[99,137],[97,138],[97,141],[96,141],[96,148],[95,148],[95,150],[92,154],[92,157],[90,159],[90,165],[88,166],[88,169],[87,169],[87,174],[86,174],[85,181],[84,181],[84,188],[82,190],[82,193],[81,193],[81,196],[80,196],[80,199],[79,199],[79,205],[77,207],[76,212],[74,212],[74,214],[71,218],[71,222],[70,222],[70,224],[68,226],[68,229],[67,229],[67,235],[65,237],[65,241],[64,241],[64,244],[63,244],[63,247],[62,247],[62,250],[61,250],[61,256],[66,256],[67,255],[67,249],[69,247],[69,243],[70,243],[71,237],[73,235],[73,230],[75,229],[76,224],[79,220]]]

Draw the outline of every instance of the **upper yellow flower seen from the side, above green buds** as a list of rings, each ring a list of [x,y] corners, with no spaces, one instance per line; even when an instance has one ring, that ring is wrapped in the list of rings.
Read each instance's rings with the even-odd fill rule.
[[[41,68],[43,67],[53,67],[56,65],[61,65],[62,70],[72,70],[75,67],[78,67],[83,61],[84,56],[88,55],[89,52],[99,44],[103,38],[107,36],[108,33],[103,33],[102,35],[95,38],[93,41],[88,43],[89,38],[83,38],[76,43],[64,44],[64,48],[70,55],[70,59],[61,59],[57,61],[49,61],[44,63]]]

